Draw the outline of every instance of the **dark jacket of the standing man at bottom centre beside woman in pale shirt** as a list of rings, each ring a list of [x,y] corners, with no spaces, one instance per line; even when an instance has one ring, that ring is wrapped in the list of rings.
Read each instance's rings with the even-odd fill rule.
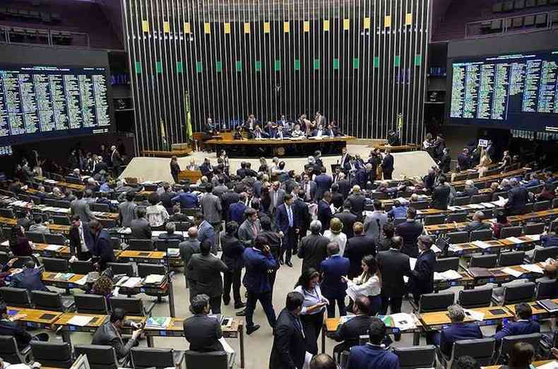
[[[269,369],[302,369],[306,343],[295,319],[286,308],[281,310],[275,323]]]

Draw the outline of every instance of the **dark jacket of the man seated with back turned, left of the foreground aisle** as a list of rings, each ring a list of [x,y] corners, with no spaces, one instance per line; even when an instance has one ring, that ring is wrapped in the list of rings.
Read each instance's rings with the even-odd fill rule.
[[[196,314],[184,320],[184,337],[190,349],[198,352],[222,351],[219,339],[222,330],[219,320],[205,314]]]

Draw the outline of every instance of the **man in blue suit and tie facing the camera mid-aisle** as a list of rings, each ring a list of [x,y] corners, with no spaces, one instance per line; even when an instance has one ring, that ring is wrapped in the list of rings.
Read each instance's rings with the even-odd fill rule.
[[[299,231],[296,227],[297,219],[292,203],[295,199],[290,193],[283,197],[283,204],[279,205],[275,210],[275,228],[279,231],[279,236],[283,238],[283,245],[279,254],[279,262],[283,264],[283,256],[285,257],[285,265],[292,267],[290,258],[292,249],[295,248],[295,234]]]

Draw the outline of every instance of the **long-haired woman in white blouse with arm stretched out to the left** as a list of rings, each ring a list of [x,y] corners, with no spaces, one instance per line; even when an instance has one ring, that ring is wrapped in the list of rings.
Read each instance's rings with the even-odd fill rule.
[[[347,277],[341,277],[341,279],[347,283],[347,294],[351,298],[358,295],[368,296],[370,300],[369,314],[376,315],[381,308],[381,275],[379,275],[374,256],[364,256],[361,265],[362,274],[359,277],[353,278],[352,281]]]

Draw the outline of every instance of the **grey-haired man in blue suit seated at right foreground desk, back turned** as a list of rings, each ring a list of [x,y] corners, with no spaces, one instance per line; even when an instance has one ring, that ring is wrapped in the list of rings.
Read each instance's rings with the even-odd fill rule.
[[[442,328],[440,332],[434,332],[431,339],[433,344],[439,346],[441,353],[450,357],[455,341],[479,339],[482,338],[482,332],[480,332],[480,327],[476,323],[463,323],[465,311],[461,306],[457,304],[449,306],[448,315],[451,325]]]

